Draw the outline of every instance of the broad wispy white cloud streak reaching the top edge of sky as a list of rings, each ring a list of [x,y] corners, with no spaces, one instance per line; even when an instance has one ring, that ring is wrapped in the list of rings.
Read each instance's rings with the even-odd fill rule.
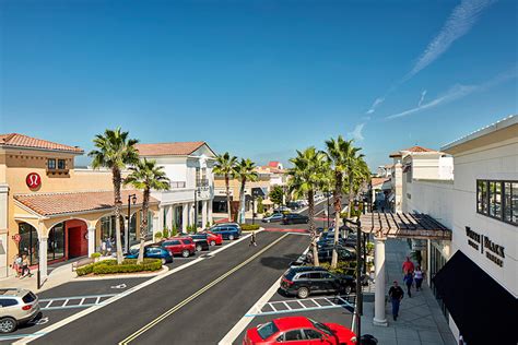
[[[428,44],[403,81],[417,74],[448,50],[454,41],[468,34],[480,14],[493,2],[494,0],[462,0],[454,9],[438,35]]]

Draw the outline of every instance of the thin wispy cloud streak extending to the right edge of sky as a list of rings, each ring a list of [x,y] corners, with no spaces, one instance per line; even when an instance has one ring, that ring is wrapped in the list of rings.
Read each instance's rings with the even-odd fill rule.
[[[506,71],[505,73],[498,74],[496,78],[493,78],[492,80],[490,80],[490,81],[487,81],[483,84],[479,84],[479,85],[457,84],[457,85],[450,87],[446,93],[444,93],[439,97],[437,97],[437,98],[435,98],[435,99],[433,99],[428,103],[421,104],[421,102],[420,102],[420,105],[417,107],[409,109],[409,110],[404,110],[404,111],[401,111],[401,112],[398,112],[398,114],[393,114],[391,116],[388,116],[386,119],[393,120],[393,119],[401,118],[401,117],[404,117],[404,116],[421,112],[421,111],[426,110],[426,109],[435,108],[435,107],[437,107],[442,104],[447,104],[447,103],[450,103],[452,100],[466,97],[466,96],[468,96],[468,95],[470,95],[474,92],[485,91],[490,87],[493,87],[497,84],[501,84],[505,81],[516,79],[516,78],[517,78],[517,68],[515,66],[515,68]]]

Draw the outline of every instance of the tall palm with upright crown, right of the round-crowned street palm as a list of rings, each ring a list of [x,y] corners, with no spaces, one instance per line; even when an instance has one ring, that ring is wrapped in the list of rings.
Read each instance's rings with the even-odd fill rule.
[[[361,148],[354,147],[353,141],[344,140],[342,135],[339,135],[335,140],[331,138],[330,140],[326,141],[326,148],[328,157],[332,162],[332,179],[334,182],[334,249],[331,259],[331,267],[334,269],[338,264],[337,245],[340,229],[340,213],[342,212],[342,193],[344,192],[344,182],[349,181],[351,167],[353,166],[353,162],[356,159],[356,153]],[[351,202],[351,200],[348,202]]]

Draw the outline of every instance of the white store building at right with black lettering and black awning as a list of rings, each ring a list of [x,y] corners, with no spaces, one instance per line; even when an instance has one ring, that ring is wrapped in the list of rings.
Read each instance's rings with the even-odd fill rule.
[[[454,158],[454,180],[443,156],[422,165],[413,155],[403,172],[403,211],[429,214],[452,230],[451,242],[428,241],[428,282],[454,334],[467,344],[516,344],[518,117],[442,152]],[[408,162],[401,162],[404,170]],[[432,167],[435,178],[429,178]]]

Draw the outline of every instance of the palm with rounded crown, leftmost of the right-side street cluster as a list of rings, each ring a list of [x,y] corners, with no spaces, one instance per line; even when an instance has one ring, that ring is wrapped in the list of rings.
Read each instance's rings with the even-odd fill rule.
[[[291,158],[293,168],[287,170],[290,191],[295,198],[307,198],[309,233],[311,235],[311,252],[314,264],[318,266],[317,233],[315,228],[315,191],[321,186],[328,169],[326,154],[310,146],[303,152],[297,151],[297,156]]]

